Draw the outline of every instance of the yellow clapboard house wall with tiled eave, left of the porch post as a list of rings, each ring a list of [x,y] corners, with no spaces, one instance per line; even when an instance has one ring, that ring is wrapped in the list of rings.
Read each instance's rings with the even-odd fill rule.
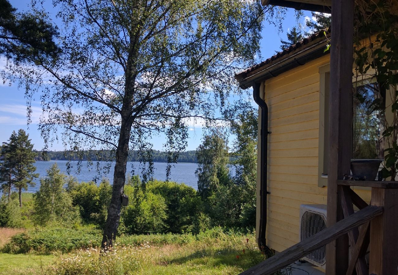
[[[314,232],[326,228],[331,79],[330,50],[325,49],[329,43],[330,32],[325,29],[236,74],[242,89],[253,87],[255,99],[256,94],[260,97],[256,99],[260,105],[259,141],[266,137],[263,144],[267,148],[265,163],[261,163],[259,142],[256,232],[259,246],[276,252],[302,239],[303,209],[319,209],[325,216]],[[353,77],[354,85],[355,81],[358,77]],[[371,79],[360,77],[363,81]],[[261,167],[267,167],[266,173]],[[261,176],[265,176],[266,186],[261,186]],[[352,189],[370,201],[370,188]],[[316,259],[309,257],[314,260],[311,262],[325,267],[325,247],[312,256]]]

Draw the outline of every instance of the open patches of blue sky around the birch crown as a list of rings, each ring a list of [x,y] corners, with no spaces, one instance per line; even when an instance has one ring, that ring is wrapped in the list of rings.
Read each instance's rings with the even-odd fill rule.
[[[26,11],[30,0],[10,0],[12,6],[18,9],[18,11]],[[306,18],[300,19],[301,24],[304,24],[304,20],[311,20],[310,12],[305,12]],[[278,30],[273,25],[265,25],[262,32],[261,39],[261,60],[264,60],[273,54],[276,50],[280,50],[281,38],[286,40],[286,32],[289,28],[297,25],[294,10],[287,12],[286,18],[283,20],[283,32],[278,33]],[[4,66],[4,59],[0,59],[0,66]],[[22,128],[27,131],[32,142],[35,144],[35,149],[40,150],[43,147],[43,139],[40,133],[37,131],[37,122],[41,114],[41,107],[39,102],[33,101],[32,103],[32,123],[27,126],[26,118],[26,100],[24,98],[23,87],[18,88],[17,83],[2,83],[0,82],[0,142],[6,141],[13,130],[17,131]],[[195,150],[196,147],[201,143],[202,128],[200,125],[190,127],[188,147],[187,150]],[[152,137],[152,143],[154,149],[162,150],[162,144],[164,143],[164,136]],[[63,150],[64,147],[61,143],[53,144],[50,148],[53,150]]]

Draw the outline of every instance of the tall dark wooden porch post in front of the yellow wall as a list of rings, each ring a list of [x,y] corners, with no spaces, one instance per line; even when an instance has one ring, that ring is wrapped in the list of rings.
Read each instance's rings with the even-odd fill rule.
[[[332,1],[328,227],[343,219],[337,180],[349,174],[351,165],[353,14],[354,0]],[[348,258],[348,238],[345,235],[326,246],[326,274],[345,274]]]

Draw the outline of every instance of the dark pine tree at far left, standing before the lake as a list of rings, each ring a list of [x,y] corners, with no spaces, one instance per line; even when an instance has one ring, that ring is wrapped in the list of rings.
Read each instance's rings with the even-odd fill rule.
[[[39,174],[34,173],[36,153],[33,152],[33,144],[29,135],[23,129],[18,130],[18,134],[13,131],[8,142],[3,145],[2,156],[4,162],[0,173],[4,180],[3,189],[6,187],[8,198],[10,198],[12,186],[18,189],[20,207],[22,207],[22,189],[27,190],[29,186],[35,186],[33,178]]]

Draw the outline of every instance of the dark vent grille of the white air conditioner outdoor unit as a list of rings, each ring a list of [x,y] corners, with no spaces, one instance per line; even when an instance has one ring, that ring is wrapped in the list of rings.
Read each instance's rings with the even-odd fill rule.
[[[300,241],[326,229],[325,217],[319,213],[305,211],[301,218]],[[306,258],[323,265],[326,262],[326,246],[308,254]]]

